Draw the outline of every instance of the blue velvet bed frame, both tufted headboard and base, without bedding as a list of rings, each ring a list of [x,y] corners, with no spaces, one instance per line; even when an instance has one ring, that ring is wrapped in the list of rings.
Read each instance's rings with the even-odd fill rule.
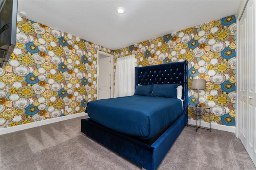
[[[172,83],[183,86],[183,114],[151,145],[103,127],[90,118],[81,120],[82,133],[138,164],[142,169],[155,170],[187,125],[188,61],[135,68],[135,88],[138,84]]]

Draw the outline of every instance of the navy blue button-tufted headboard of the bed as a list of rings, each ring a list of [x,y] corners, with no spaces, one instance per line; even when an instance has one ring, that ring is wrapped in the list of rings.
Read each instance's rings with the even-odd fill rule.
[[[140,85],[173,84],[182,85],[184,114],[188,109],[188,61],[135,67],[135,88]]]

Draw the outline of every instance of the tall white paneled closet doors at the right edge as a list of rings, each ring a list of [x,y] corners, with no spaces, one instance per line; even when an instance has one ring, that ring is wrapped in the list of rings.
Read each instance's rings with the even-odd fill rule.
[[[239,21],[238,137],[256,165],[256,3],[249,0]]]

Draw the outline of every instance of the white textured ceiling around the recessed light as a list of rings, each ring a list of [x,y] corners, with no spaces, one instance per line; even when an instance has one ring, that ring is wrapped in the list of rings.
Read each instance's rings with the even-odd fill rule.
[[[236,14],[240,0],[18,0],[28,19],[115,50]],[[123,7],[124,14],[116,8]]]

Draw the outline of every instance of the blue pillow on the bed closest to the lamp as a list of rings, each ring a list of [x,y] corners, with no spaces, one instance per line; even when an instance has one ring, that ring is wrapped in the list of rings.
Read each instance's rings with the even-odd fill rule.
[[[152,96],[176,98],[178,85],[179,84],[154,84]]]

